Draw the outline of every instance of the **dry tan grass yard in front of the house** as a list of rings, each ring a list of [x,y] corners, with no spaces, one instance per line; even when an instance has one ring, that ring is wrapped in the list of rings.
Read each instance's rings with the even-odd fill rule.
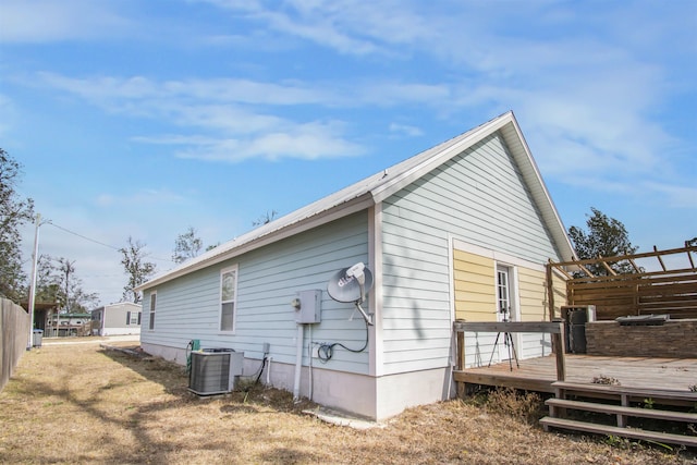
[[[199,399],[182,367],[44,345],[0,393],[3,464],[694,464],[694,451],[546,433],[539,397],[497,393],[411,408],[379,427],[330,425],[259,384]]]

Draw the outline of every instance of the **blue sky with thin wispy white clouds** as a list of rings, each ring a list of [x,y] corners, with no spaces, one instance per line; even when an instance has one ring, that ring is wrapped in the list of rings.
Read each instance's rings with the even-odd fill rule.
[[[697,235],[697,1],[0,0],[0,147],[102,303],[130,235],[163,271],[508,110],[566,228]]]

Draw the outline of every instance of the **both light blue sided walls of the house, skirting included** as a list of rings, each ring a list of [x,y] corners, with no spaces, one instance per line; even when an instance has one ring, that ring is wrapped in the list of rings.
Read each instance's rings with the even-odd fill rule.
[[[493,250],[525,262],[559,258],[498,133],[375,208],[145,289],[144,328],[149,327],[151,293],[157,295],[157,305],[155,328],[143,330],[142,345],[181,364],[192,339],[200,340],[203,347],[232,347],[245,353],[244,375],[250,376],[268,342],[269,381],[290,389],[298,343],[291,301],[298,291],[321,290],[321,322],[303,330],[301,395],[311,392],[313,400],[321,404],[376,419],[405,406],[447,399],[453,392],[452,322],[456,311],[475,303],[458,297],[463,289],[457,286],[467,279],[479,279],[478,318],[488,318],[489,304],[496,307],[496,261],[482,260],[477,254],[460,255],[457,260],[469,259],[472,267],[479,267],[478,277],[463,278],[462,272],[466,276],[474,268],[453,266],[455,238],[477,250]],[[337,270],[357,261],[377,270],[376,289],[366,303],[376,318],[369,330],[371,352],[337,347],[331,360],[318,364],[310,358],[314,342],[356,348],[366,341],[360,316],[351,319],[353,304],[334,302],[326,292]],[[239,270],[235,330],[222,333],[218,329],[220,272],[232,266]],[[489,272],[492,279],[487,284],[484,277]],[[456,274],[462,279],[454,280]],[[539,301],[539,276],[522,272],[519,278],[524,283],[519,298],[525,305]],[[494,313],[490,315],[496,318]],[[311,369],[310,363],[315,365]]]

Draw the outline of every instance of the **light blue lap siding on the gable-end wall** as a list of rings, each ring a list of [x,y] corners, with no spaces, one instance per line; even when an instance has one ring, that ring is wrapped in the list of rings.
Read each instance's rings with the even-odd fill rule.
[[[449,236],[533,262],[557,257],[498,134],[388,198],[382,219],[386,374],[450,364]]]

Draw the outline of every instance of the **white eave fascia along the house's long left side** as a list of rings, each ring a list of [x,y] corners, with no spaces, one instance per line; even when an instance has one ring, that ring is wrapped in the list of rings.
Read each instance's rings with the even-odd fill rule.
[[[346,201],[330,210],[322,211],[321,213],[318,213],[316,216],[308,217],[286,228],[281,228],[268,234],[244,242],[236,247],[233,247],[223,253],[213,255],[208,259],[195,261],[195,262],[192,262],[191,266],[183,266],[182,268],[174,269],[170,272],[156,277],[150,281],[145,282],[139,286],[135,287],[134,291],[142,292],[146,289],[155,287],[159,284],[166,283],[168,281],[172,281],[176,278],[181,278],[191,272],[203,270],[204,268],[208,268],[212,265],[217,265],[222,261],[230,260],[234,257],[239,257],[248,252],[256,250],[257,248],[264,247],[265,245],[269,245],[274,242],[281,241],[283,238],[293,236],[295,234],[299,234],[302,232],[320,227],[322,224],[327,224],[331,221],[347,217],[348,215],[358,212],[360,210],[366,210],[369,207],[372,207],[375,204],[372,201],[372,198],[369,195],[356,197],[353,200]]]

